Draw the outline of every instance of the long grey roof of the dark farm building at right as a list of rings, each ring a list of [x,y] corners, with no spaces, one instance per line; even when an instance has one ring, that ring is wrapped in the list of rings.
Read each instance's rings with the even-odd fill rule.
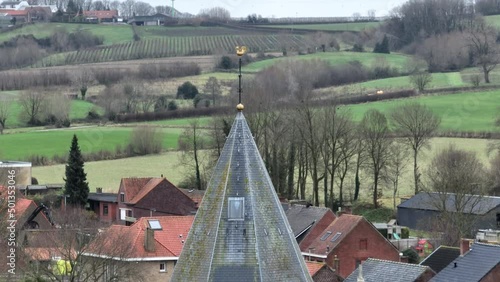
[[[439,211],[445,203],[447,211],[456,212],[456,195],[453,193],[420,192],[398,205],[398,208]],[[463,211],[472,214],[486,214],[500,206],[500,197],[467,195],[461,200]]]

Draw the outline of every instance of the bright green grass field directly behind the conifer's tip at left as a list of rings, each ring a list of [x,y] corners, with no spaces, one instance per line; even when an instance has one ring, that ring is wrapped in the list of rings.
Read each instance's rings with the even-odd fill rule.
[[[52,157],[63,156],[69,150],[73,134],[78,136],[82,153],[100,150],[114,151],[117,145],[122,148],[128,144],[132,127],[82,127],[55,130],[30,131],[0,136],[2,146],[0,156],[6,160],[27,160],[31,155]],[[163,148],[176,149],[180,128],[161,128]]]

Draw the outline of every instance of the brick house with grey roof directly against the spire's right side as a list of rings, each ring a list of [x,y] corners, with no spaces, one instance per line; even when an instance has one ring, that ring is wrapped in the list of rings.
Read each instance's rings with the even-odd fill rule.
[[[310,245],[336,218],[331,209],[310,204],[289,205],[285,214],[301,249]]]

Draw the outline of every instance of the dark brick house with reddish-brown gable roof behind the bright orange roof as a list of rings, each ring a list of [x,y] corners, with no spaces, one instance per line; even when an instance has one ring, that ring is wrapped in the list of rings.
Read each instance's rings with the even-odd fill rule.
[[[122,178],[117,223],[130,225],[146,216],[195,214],[197,204],[165,178]]]

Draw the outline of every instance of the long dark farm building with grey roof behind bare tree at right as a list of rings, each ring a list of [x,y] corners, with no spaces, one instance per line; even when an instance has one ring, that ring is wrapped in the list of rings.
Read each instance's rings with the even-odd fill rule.
[[[500,226],[500,197],[466,195],[462,199],[462,213],[476,217],[473,229],[495,229]],[[444,204],[444,205],[443,205]],[[446,209],[457,212],[453,193],[421,192],[398,205],[398,223],[412,229],[429,230],[432,221]]]

